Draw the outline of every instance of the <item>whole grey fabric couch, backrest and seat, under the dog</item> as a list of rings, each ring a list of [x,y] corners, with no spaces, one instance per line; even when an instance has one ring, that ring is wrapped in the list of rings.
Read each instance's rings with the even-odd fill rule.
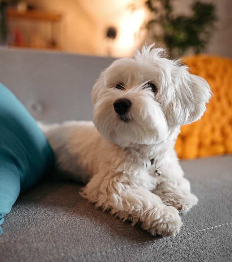
[[[90,92],[111,59],[0,48],[0,81],[37,119],[90,120]],[[232,156],[181,161],[199,204],[179,235],[153,237],[82,199],[82,185],[41,181],[2,225],[0,261],[232,261]],[[1,181],[0,181],[1,182]]]

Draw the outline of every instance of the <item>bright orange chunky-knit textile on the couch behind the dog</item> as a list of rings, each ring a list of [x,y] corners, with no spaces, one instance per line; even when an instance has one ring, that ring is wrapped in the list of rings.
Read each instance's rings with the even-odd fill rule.
[[[192,74],[203,77],[213,97],[203,117],[181,128],[175,149],[179,158],[232,153],[232,60],[210,55],[184,57]]]

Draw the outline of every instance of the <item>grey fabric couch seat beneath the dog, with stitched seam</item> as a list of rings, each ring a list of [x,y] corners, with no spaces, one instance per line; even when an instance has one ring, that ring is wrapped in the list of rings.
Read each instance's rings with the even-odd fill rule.
[[[1,261],[231,261],[232,156],[181,165],[199,198],[179,235],[153,237],[95,209],[81,185],[44,181],[6,216]]]

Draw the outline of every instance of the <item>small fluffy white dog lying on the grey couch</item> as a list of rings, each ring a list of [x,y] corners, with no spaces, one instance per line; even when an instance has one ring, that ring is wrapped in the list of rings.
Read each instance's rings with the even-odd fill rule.
[[[83,196],[152,235],[174,236],[179,212],[196,205],[174,144],[198,120],[211,91],[163,49],[144,46],[115,60],[92,89],[93,122],[41,125],[64,178],[87,183]]]

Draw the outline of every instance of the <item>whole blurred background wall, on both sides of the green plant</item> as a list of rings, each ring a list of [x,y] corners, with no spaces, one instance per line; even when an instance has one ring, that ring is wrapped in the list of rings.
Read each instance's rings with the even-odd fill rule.
[[[177,13],[188,13],[194,0],[174,0]],[[30,0],[35,6],[63,14],[60,25],[60,46],[63,51],[107,55],[104,41],[108,26],[118,28],[113,56],[131,55],[139,47],[144,35],[138,36],[146,16],[143,9],[132,13],[127,8],[132,0]],[[140,1],[137,1],[140,2]],[[205,0],[205,2],[210,2]],[[231,0],[212,0],[217,5],[219,21],[206,53],[232,57]]]

